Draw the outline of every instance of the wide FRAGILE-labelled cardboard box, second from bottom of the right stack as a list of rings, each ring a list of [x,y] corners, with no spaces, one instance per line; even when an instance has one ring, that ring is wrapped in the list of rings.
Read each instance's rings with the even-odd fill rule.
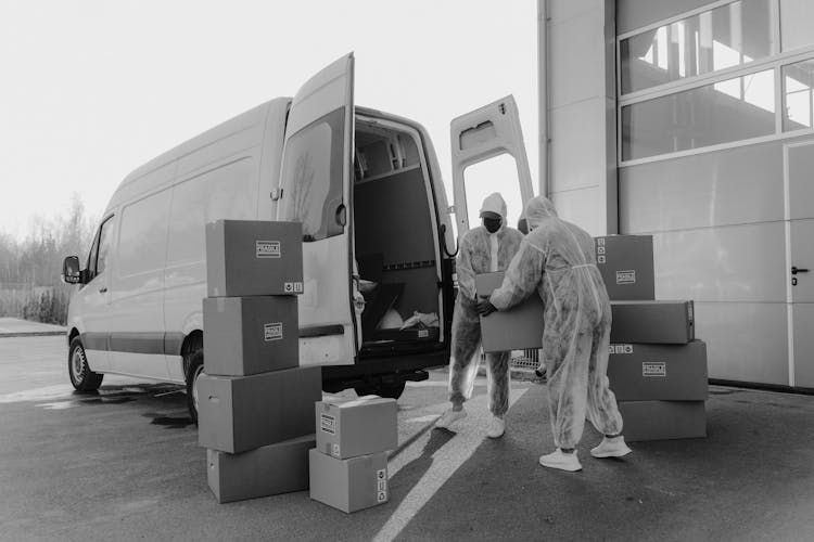
[[[618,401],[703,401],[707,345],[610,345],[608,378]]]

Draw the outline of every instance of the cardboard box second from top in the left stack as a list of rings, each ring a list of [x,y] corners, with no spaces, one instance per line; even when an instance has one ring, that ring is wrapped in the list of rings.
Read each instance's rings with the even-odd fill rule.
[[[294,296],[208,297],[203,317],[208,375],[249,376],[300,364]]]

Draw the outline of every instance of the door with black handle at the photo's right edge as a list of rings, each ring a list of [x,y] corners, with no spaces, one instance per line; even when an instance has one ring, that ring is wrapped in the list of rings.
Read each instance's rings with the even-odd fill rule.
[[[814,142],[785,150],[789,384],[814,388]]]

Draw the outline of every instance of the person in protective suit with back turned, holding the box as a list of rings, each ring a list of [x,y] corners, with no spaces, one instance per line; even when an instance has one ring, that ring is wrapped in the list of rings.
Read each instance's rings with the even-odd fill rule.
[[[557,449],[543,466],[582,469],[576,444],[585,417],[605,435],[595,457],[631,453],[622,437],[622,416],[608,387],[611,307],[596,267],[594,240],[561,220],[543,196],[525,207],[529,234],[509,263],[499,288],[478,304],[481,315],[506,310],[533,295],[543,299],[543,352],[548,373],[548,408]]]

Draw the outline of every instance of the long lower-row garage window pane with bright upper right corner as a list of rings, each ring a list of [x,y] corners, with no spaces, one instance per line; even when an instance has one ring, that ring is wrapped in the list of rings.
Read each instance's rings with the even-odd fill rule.
[[[774,70],[622,107],[622,159],[728,143],[775,131]]]

